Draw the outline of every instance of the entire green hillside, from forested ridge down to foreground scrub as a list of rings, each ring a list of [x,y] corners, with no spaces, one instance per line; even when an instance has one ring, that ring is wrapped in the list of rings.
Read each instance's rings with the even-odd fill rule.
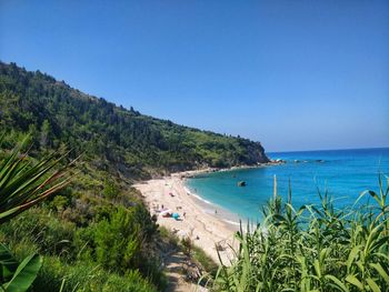
[[[19,263],[30,254],[43,256],[31,291],[163,291],[163,254],[184,248],[154,223],[132,182],[268,161],[259,142],[147,117],[39,71],[0,62],[3,178],[16,148],[23,158],[20,171],[56,151],[71,151],[57,168],[81,155],[69,171],[69,187],[0,224],[0,246]],[[215,268],[202,251],[194,254],[200,270]]]

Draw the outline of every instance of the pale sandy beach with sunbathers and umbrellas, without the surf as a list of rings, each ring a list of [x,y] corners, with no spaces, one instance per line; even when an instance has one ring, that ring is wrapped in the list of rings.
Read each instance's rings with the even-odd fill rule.
[[[219,259],[216,246],[222,246],[223,251],[220,251],[220,255],[228,264],[229,259],[232,258],[228,245],[236,245],[233,233],[239,226],[223,221],[219,214],[206,212],[199,199],[184,187],[186,177],[197,173],[199,171],[174,173],[162,179],[134,184],[134,188],[144,197],[150,213],[158,215],[158,224],[171,230],[179,238],[189,236],[217,263]],[[178,213],[179,220],[162,217],[161,210],[167,209],[171,213]]]

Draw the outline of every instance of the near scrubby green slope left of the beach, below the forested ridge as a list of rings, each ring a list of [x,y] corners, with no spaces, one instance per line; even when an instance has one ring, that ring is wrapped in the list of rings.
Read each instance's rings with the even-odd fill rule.
[[[26,187],[21,187],[27,180],[19,172],[29,173],[27,178],[40,185],[41,182],[51,181],[50,175],[57,177],[57,170],[63,167],[69,169],[67,157],[54,160],[54,153],[50,151],[39,155],[36,153],[43,157],[43,160],[38,160],[26,155],[26,150],[13,152],[1,149],[2,198],[8,190],[14,190],[21,198],[27,195]],[[21,159],[18,165],[8,168],[6,172],[4,165],[11,154]],[[43,169],[38,165],[40,161],[47,160],[46,157],[51,157],[52,163],[46,170],[48,174],[42,173],[38,178],[36,173]],[[107,174],[99,182],[103,175],[98,172],[87,175],[89,171],[84,165],[76,165],[67,172],[71,184],[41,202],[38,208],[20,213],[10,221],[4,221],[1,214],[0,284],[4,284],[4,275],[9,274],[4,272],[8,264],[3,261],[4,246],[8,246],[17,262],[22,262],[31,254],[43,256],[32,291],[163,290],[166,278],[159,256],[163,238],[139,193],[107,179]],[[47,193],[44,185],[42,190]],[[29,193],[33,198],[34,189]],[[4,208],[10,202],[7,200],[2,203],[2,212],[7,211]],[[22,205],[21,210],[26,210]]]

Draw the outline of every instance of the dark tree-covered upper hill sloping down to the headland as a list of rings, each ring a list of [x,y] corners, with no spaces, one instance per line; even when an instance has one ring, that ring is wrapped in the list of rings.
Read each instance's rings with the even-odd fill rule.
[[[127,178],[268,161],[259,142],[147,117],[14,63],[0,62],[0,109],[2,130],[32,133],[36,148],[66,143]]]

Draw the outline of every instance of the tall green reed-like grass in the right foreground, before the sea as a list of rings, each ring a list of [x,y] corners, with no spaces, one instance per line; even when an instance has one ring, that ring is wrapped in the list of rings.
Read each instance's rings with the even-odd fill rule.
[[[275,191],[266,221],[240,242],[231,266],[221,263],[217,291],[389,291],[389,179],[367,191],[367,205],[336,209],[327,193],[321,205],[293,209]],[[360,198],[361,198],[360,197]],[[372,203],[370,203],[372,201]]]

